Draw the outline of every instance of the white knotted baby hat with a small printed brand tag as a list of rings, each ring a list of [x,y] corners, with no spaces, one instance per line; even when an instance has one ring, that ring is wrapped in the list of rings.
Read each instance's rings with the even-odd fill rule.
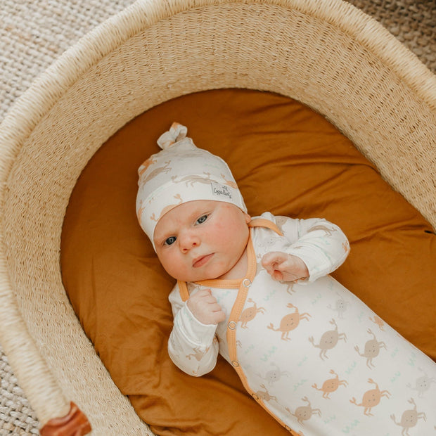
[[[138,169],[136,215],[151,243],[159,219],[188,201],[224,201],[247,212],[226,162],[196,147],[186,137],[187,133],[185,126],[174,122],[158,139],[162,150],[151,155]]]

